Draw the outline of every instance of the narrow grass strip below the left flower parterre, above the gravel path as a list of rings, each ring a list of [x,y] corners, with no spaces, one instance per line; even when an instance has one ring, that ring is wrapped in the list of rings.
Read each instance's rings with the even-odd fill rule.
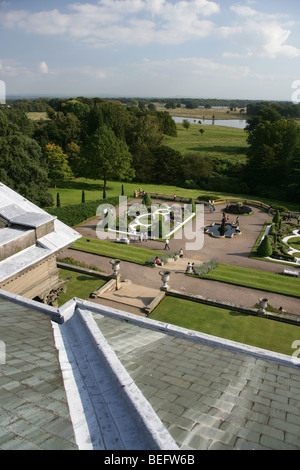
[[[90,240],[89,242],[87,240]],[[136,264],[145,264],[153,256],[163,255],[163,251],[149,250],[136,246],[123,245],[122,243],[113,243],[106,240],[87,239],[85,237],[77,240],[71,247],[72,250],[84,251],[95,255],[107,256],[113,259],[121,259]]]

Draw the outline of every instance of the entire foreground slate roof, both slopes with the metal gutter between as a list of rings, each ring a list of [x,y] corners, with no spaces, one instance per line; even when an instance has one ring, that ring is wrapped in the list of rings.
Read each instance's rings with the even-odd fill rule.
[[[120,396],[143,429],[136,448],[300,449],[300,367],[290,356],[80,299],[59,311],[0,299],[0,449],[127,448],[122,422],[115,447],[99,438],[102,407],[114,412]]]

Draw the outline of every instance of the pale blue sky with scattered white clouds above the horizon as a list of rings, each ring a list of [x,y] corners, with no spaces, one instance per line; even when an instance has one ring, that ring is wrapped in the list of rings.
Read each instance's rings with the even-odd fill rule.
[[[299,64],[299,0],[0,0],[0,95],[291,101]]]

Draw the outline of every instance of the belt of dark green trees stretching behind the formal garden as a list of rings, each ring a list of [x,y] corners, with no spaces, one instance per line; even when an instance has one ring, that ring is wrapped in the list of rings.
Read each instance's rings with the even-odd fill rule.
[[[165,135],[176,136],[170,115],[137,103],[79,97],[39,104],[48,119],[38,122],[22,106],[0,108],[0,180],[41,206],[53,204],[49,184],[74,177],[102,179],[103,198],[107,181],[118,180],[299,200],[300,127],[288,113],[293,105],[252,108],[243,164],[238,157],[183,156],[164,142]]]

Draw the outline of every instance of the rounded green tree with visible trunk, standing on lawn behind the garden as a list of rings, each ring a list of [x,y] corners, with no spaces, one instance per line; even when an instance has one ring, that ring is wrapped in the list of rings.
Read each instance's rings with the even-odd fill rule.
[[[102,125],[82,147],[82,161],[87,178],[103,179],[103,198],[106,197],[107,180],[130,181],[134,176],[132,156],[124,140]]]

